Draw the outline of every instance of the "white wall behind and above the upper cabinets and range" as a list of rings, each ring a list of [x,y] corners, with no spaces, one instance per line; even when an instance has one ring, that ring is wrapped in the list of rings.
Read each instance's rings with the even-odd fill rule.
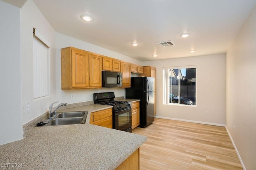
[[[61,65],[60,65],[60,49],[64,47],[76,47],[86,51],[98,53],[108,57],[120,59],[122,61],[131,62],[134,64],[141,65],[142,62],[131,57],[104,49],[102,47],[83,42],[81,40],[66,36],[56,32],[56,100],[61,100],[66,103],[79,103],[85,101],[93,101],[93,93],[102,93],[108,91],[114,91],[116,97],[125,96],[125,89],[114,87],[114,88],[102,88],[102,89],[84,89],[84,90],[62,90],[61,89]],[[74,99],[70,99],[70,94],[74,94]]]

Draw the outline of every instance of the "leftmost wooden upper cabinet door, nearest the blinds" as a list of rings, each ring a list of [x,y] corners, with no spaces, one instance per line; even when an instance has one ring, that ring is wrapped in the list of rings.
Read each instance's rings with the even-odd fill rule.
[[[72,49],[72,87],[89,87],[88,53]]]

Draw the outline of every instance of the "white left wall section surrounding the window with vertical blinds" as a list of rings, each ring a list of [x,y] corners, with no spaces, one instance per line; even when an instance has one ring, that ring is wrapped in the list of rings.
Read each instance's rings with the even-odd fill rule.
[[[33,99],[33,28],[36,28],[51,43],[50,47],[50,92],[48,97]],[[28,123],[48,111],[55,95],[55,31],[32,0],[21,9],[21,77],[22,103],[30,102],[30,112],[22,115],[22,123]]]

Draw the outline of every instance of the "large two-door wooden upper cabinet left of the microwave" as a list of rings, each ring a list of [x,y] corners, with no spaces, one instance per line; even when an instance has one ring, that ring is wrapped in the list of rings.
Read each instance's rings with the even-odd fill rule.
[[[61,88],[101,88],[100,55],[66,47],[61,49]]]

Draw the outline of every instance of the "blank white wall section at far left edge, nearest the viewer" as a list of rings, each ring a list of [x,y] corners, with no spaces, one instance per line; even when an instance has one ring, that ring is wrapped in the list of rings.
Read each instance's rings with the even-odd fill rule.
[[[0,1],[0,145],[22,139],[20,8]]]

